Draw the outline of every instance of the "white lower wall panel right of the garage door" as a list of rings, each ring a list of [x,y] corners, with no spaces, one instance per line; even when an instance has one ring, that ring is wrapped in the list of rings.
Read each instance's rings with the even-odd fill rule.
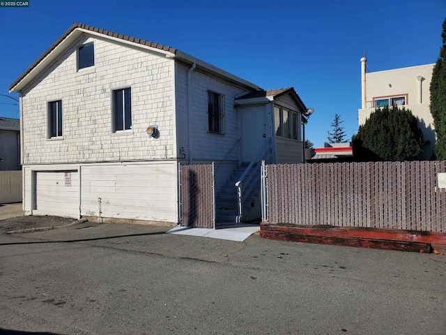
[[[81,215],[178,222],[176,163],[81,167]]]

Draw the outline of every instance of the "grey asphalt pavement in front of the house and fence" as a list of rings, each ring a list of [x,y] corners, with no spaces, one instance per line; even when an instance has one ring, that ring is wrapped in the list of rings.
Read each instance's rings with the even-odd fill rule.
[[[0,333],[446,334],[445,256],[167,229],[0,234]]]

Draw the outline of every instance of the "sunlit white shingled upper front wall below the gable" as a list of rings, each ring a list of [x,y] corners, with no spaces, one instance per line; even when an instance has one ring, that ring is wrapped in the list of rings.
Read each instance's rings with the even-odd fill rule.
[[[95,65],[77,71],[77,46],[94,43]],[[112,133],[112,90],[132,89],[132,131]],[[63,140],[47,139],[47,103],[62,101]],[[176,158],[174,60],[84,36],[23,91],[26,164]],[[157,125],[160,138],[148,137]]]

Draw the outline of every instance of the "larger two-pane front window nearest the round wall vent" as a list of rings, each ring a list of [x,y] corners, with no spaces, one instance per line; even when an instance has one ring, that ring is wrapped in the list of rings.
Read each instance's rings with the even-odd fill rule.
[[[132,129],[132,91],[116,89],[113,91],[113,131],[127,131]]]

